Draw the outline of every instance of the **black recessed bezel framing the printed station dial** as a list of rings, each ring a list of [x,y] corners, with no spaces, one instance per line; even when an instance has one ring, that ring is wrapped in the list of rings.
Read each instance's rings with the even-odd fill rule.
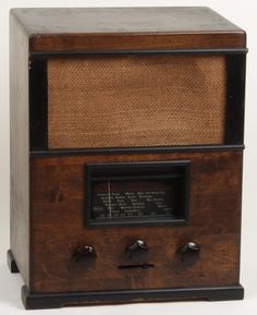
[[[93,218],[93,186],[97,179],[170,179],[175,190],[175,216],[169,217],[118,217]],[[86,227],[113,226],[166,226],[184,225],[188,220],[191,185],[191,161],[154,161],[154,162],[108,162],[88,163],[85,166],[85,209],[84,223]]]

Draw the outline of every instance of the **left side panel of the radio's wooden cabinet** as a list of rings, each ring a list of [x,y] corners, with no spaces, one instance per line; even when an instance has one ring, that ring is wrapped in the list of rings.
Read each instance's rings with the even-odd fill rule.
[[[11,250],[28,286],[28,38],[12,13],[10,38]]]

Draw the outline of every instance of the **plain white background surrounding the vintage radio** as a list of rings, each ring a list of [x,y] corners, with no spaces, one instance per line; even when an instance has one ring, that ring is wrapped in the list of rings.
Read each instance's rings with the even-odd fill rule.
[[[175,302],[119,306],[66,307],[29,311],[29,314],[257,314],[257,3],[255,0],[212,1],[5,1],[0,2],[0,314],[25,314],[20,298],[20,275],[11,275],[5,264],[9,249],[10,155],[9,155],[9,9],[22,7],[182,7],[207,5],[247,32],[246,128],[243,190],[243,238],[241,283],[244,301]],[[211,257],[210,257],[211,259]],[[189,284],[189,283],[188,283]]]

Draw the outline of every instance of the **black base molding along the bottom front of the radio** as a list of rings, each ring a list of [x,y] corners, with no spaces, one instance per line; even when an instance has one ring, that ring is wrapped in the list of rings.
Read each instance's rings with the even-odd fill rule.
[[[22,287],[22,300],[27,310],[58,308],[71,305],[168,302],[180,300],[225,301],[243,299],[244,288],[241,284],[217,288],[118,290],[46,294],[29,293],[26,286]]]

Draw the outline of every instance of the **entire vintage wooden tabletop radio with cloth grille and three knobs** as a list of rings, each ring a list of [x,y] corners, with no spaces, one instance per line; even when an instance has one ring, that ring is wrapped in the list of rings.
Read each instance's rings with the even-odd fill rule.
[[[11,11],[26,308],[243,299],[245,41],[207,8]]]

